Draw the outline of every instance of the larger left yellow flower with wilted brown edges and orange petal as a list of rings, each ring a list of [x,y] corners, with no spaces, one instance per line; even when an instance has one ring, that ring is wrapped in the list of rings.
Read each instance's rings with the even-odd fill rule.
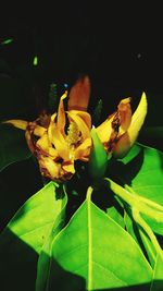
[[[42,175],[64,181],[75,173],[74,161],[88,161],[91,147],[91,117],[86,112],[90,96],[90,81],[79,78],[70,90],[67,111],[60,99],[58,112],[42,113],[36,121],[9,120],[14,126],[25,130],[32,153],[37,157]]]

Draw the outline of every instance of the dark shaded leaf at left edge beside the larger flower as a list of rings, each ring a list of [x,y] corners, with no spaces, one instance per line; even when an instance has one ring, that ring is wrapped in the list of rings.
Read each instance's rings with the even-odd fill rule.
[[[27,159],[32,156],[24,131],[11,125],[0,125],[0,171],[9,165]]]

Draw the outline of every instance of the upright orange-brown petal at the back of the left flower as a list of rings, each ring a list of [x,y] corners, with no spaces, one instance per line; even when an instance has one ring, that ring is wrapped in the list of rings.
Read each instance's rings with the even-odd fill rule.
[[[67,109],[87,111],[90,97],[90,80],[88,76],[79,78],[70,90]]]

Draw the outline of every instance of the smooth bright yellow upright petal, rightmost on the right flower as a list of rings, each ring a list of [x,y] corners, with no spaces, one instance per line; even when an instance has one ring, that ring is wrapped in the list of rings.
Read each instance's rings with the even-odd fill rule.
[[[139,131],[143,124],[147,114],[147,97],[143,93],[140,102],[131,118],[131,123],[126,133],[124,133],[116,143],[113,151],[113,156],[116,158],[123,158],[136,142]]]

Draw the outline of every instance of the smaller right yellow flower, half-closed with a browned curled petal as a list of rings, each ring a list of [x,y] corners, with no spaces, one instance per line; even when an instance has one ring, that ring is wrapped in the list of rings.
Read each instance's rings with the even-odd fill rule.
[[[97,134],[108,154],[123,158],[136,142],[147,114],[147,98],[142,93],[139,105],[131,116],[130,98],[121,100],[117,111],[99,125]]]

